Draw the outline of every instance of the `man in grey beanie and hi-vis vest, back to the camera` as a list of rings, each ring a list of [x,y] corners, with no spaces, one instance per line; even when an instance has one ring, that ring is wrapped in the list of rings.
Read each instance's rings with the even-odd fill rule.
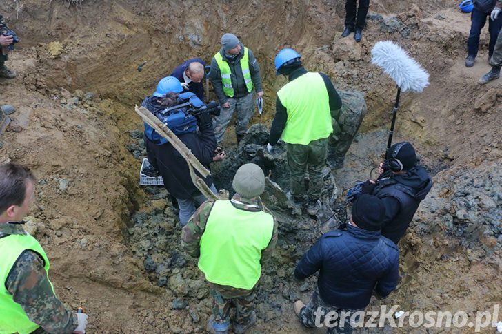
[[[230,308],[235,306],[234,333],[244,333],[256,322],[254,291],[261,277],[261,260],[277,243],[277,221],[261,202],[263,171],[254,164],[241,166],[233,181],[232,200],[204,202],[183,227],[181,243],[210,286],[213,300],[208,330],[228,333]]]

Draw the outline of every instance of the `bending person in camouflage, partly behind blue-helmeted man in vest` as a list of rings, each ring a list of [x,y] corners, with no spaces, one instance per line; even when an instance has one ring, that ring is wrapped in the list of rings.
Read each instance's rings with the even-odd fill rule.
[[[341,109],[332,112],[333,133],[328,145],[328,163],[334,169],[343,167],[345,154],[368,112],[364,94],[357,90],[338,90],[343,103]]]

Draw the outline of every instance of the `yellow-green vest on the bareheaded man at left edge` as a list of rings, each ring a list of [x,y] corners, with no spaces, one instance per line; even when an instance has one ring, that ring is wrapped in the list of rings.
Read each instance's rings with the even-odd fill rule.
[[[49,260],[39,242],[30,235],[11,234],[0,238],[0,333],[28,334],[39,328],[32,322],[21,305],[14,302],[12,295],[6,289],[7,276],[21,254],[26,251],[38,253],[45,263],[44,268],[49,273]],[[50,281],[49,281],[50,282]],[[52,286],[52,283],[50,283]],[[54,287],[52,287],[54,291]]]

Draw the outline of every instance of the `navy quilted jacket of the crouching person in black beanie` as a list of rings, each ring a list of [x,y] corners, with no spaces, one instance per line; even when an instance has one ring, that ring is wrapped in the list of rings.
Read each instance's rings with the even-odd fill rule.
[[[345,227],[345,226],[343,226]],[[380,231],[347,225],[325,233],[303,255],[296,278],[319,271],[317,286],[323,301],[341,309],[364,309],[372,292],[387,297],[399,278],[399,250]]]

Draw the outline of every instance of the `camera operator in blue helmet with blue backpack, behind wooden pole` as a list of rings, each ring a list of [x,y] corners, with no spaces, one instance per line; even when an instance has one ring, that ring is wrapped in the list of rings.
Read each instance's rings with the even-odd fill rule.
[[[178,79],[167,76],[157,85],[157,90],[143,101],[142,106],[153,114],[159,115],[163,110],[190,101],[194,107],[204,107],[204,103],[191,92],[183,92],[183,87]],[[186,112],[186,109],[179,109],[184,112],[183,125],[180,128],[170,129],[178,138],[192,151],[192,154],[209,169],[215,153],[217,143],[212,128],[212,119],[207,111],[199,112],[196,116]],[[157,116],[159,117],[159,116]],[[165,121],[164,121],[165,123]],[[197,126],[199,130],[197,131]],[[165,189],[169,194],[177,199],[179,205],[179,221],[182,226],[186,225],[188,219],[207,198],[195,187],[190,178],[190,170],[187,162],[181,154],[162,136],[145,123],[145,146],[150,164],[161,174]],[[196,171],[197,173],[197,171]],[[200,176],[200,175],[199,175]],[[201,177],[202,178],[202,177]],[[205,184],[216,194],[212,176],[204,179]]]

